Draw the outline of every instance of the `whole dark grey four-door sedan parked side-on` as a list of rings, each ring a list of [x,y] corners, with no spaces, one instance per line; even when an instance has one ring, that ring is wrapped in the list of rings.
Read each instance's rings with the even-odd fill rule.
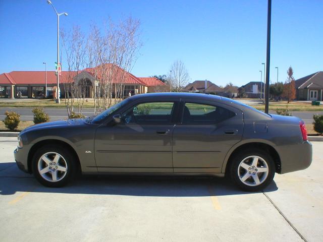
[[[31,126],[18,136],[17,165],[44,186],[77,173],[228,176],[259,191],[307,168],[304,122],[232,99],[195,93],[135,95],[95,117]]]

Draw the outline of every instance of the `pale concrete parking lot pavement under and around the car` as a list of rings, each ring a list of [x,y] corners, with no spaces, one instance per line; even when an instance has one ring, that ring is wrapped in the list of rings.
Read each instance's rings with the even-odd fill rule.
[[[1,241],[321,241],[323,143],[312,165],[264,193],[224,178],[82,177],[45,188],[0,138]],[[304,239],[303,239],[303,238]]]

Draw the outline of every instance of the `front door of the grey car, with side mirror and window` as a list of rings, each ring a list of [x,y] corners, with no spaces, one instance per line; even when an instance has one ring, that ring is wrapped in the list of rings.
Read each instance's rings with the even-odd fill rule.
[[[146,101],[121,113],[121,124],[104,124],[95,136],[99,172],[173,172],[175,101]]]

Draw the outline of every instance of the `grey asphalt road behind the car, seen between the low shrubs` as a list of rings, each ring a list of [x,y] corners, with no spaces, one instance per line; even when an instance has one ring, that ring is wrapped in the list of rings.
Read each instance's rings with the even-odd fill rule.
[[[19,108],[19,107],[10,107],[10,108],[0,108],[0,119],[5,118],[5,111],[13,110],[18,112],[21,115],[21,120],[23,121],[32,121],[33,113],[32,108]],[[50,120],[60,120],[63,118],[67,118],[67,111],[65,108],[44,108],[45,112],[47,112],[50,116]],[[270,111],[270,113],[276,113],[276,111]],[[315,113],[323,114],[323,112],[297,112],[291,111],[294,116],[297,116],[304,120],[306,124],[311,124],[313,122],[313,115]],[[85,116],[91,116],[94,114],[93,108],[84,108],[83,114]]]

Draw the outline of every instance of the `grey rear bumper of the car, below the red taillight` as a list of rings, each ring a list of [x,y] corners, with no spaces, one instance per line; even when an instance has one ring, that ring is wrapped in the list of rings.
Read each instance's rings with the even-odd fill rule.
[[[276,149],[281,158],[281,174],[306,169],[312,163],[312,144],[309,141],[277,146]]]

